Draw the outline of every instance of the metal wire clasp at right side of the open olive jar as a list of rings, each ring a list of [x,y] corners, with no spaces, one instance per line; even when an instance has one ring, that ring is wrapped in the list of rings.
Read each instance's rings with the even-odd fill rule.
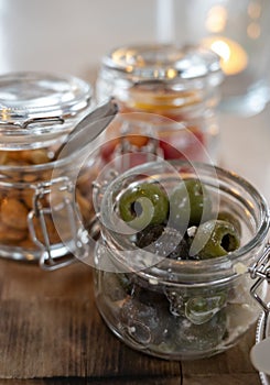
[[[249,267],[249,273],[252,279],[256,279],[256,283],[250,288],[251,296],[259,302],[262,310],[266,314],[266,318],[268,318],[269,311],[270,311],[270,305],[267,304],[258,294],[258,289],[260,286],[267,280],[267,283],[270,283],[270,244],[264,249],[263,254],[260,256],[260,258]]]

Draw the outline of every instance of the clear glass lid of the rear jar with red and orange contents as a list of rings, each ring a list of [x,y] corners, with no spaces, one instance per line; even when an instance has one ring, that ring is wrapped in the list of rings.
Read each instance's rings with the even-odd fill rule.
[[[156,44],[118,47],[104,57],[102,67],[132,82],[177,84],[206,77],[215,86],[223,79],[219,56],[199,46],[180,48]]]

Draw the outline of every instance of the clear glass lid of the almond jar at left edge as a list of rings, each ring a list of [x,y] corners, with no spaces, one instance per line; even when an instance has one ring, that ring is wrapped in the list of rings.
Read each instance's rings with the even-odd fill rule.
[[[88,110],[91,86],[73,77],[46,73],[0,76],[0,135],[4,147],[29,147],[71,130]]]

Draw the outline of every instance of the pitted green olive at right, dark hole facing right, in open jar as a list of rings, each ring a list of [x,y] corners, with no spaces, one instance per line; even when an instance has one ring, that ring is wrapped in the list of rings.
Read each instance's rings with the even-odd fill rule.
[[[223,256],[234,252],[240,245],[240,237],[233,223],[223,220],[208,220],[196,231],[190,254],[201,260]]]

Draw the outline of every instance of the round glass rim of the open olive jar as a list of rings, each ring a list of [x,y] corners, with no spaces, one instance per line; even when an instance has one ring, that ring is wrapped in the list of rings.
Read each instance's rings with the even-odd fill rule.
[[[105,233],[109,234],[108,239],[114,239],[114,234],[110,233],[110,230],[106,228],[106,223],[108,221],[108,206],[106,206],[106,200],[111,197],[114,187],[117,185],[121,185],[125,178],[131,175],[131,173],[136,173],[137,169],[140,169],[140,172],[143,174],[143,170],[147,168],[155,168],[158,169],[159,166],[162,164],[162,162],[150,162],[144,165],[136,166],[132,169],[129,169],[121,174],[120,176],[116,177],[112,183],[110,183],[104,194],[101,204],[100,204],[100,220],[101,220],[101,228],[105,228]],[[183,167],[183,169],[186,167],[187,163],[182,162],[182,161],[172,161],[170,162],[173,166],[177,167]],[[208,258],[208,260],[199,260],[199,261],[174,261],[170,258],[162,258],[162,261],[159,258],[156,264],[153,264],[150,267],[145,267],[145,270],[137,270],[134,268],[136,273],[138,275],[144,276],[144,277],[156,277],[159,275],[162,277],[164,275],[164,279],[168,279],[166,272],[168,268],[173,271],[174,273],[179,273],[180,275],[183,274],[183,270],[187,268],[188,274],[187,275],[193,275],[194,277],[198,278],[198,282],[204,284],[205,278],[207,280],[207,275],[208,279],[210,280],[225,280],[225,279],[231,279],[231,277],[235,277],[238,274],[244,274],[247,272],[247,255],[249,254],[250,258],[250,253],[256,251],[256,249],[266,242],[267,234],[269,231],[269,226],[270,226],[270,217],[269,217],[269,209],[268,209],[268,204],[264,199],[264,197],[245,178],[240,177],[234,172],[226,170],[222,167],[218,166],[213,166],[209,164],[205,163],[196,163],[193,162],[192,166],[195,167],[196,172],[215,172],[217,175],[218,180],[220,182],[220,178],[224,178],[226,180],[230,180],[234,184],[244,187],[245,190],[248,191],[250,197],[252,196],[253,201],[256,205],[258,205],[258,210],[260,212],[260,221],[258,223],[258,227],[256,228],[256,233],[252,235],[250,240],[248,240],[244,245],[241,245],[239,249],[237,249],[234,252],[229,252],[225,256],[218,256],[215,258]],[[202,175],[202,174],[201,174]],[[203,178],[202,178],[203,180]],[[239,197],[241,199],[241,197]],[[250,207],[252,207],[252,202],[248,202]],[[114,242],[114,241],[112,241]],[[114,251],[119,257],[119,263],[125,265],[125,257],[122,257],[121,251],[118,252],[117,248],[119,244],[117,244],[116,249]],[[138,249],[137,249],[138,250]],[[127,255],[127,254],[126,254]],[[251,257],[256,257],[256,255],[252,255]],[[236,268],[237,264],[240,263],[240,268],[239,271]],[[127,267],[127,266],[126,266]],[[134,266],[132,266],[133,268]],[[245,271],[242,271],[242,267],[245,267]],[[131,268],[131,270],[132,270]],[[130,270],[130,266],[128,266],[128,270]],[[208,273],[206,273],[208,271]],[[164,274],[163,274],[164,273]],[[204,274],[204,277],[199,277]],[[177,282],[179,284],[179,282]]]

